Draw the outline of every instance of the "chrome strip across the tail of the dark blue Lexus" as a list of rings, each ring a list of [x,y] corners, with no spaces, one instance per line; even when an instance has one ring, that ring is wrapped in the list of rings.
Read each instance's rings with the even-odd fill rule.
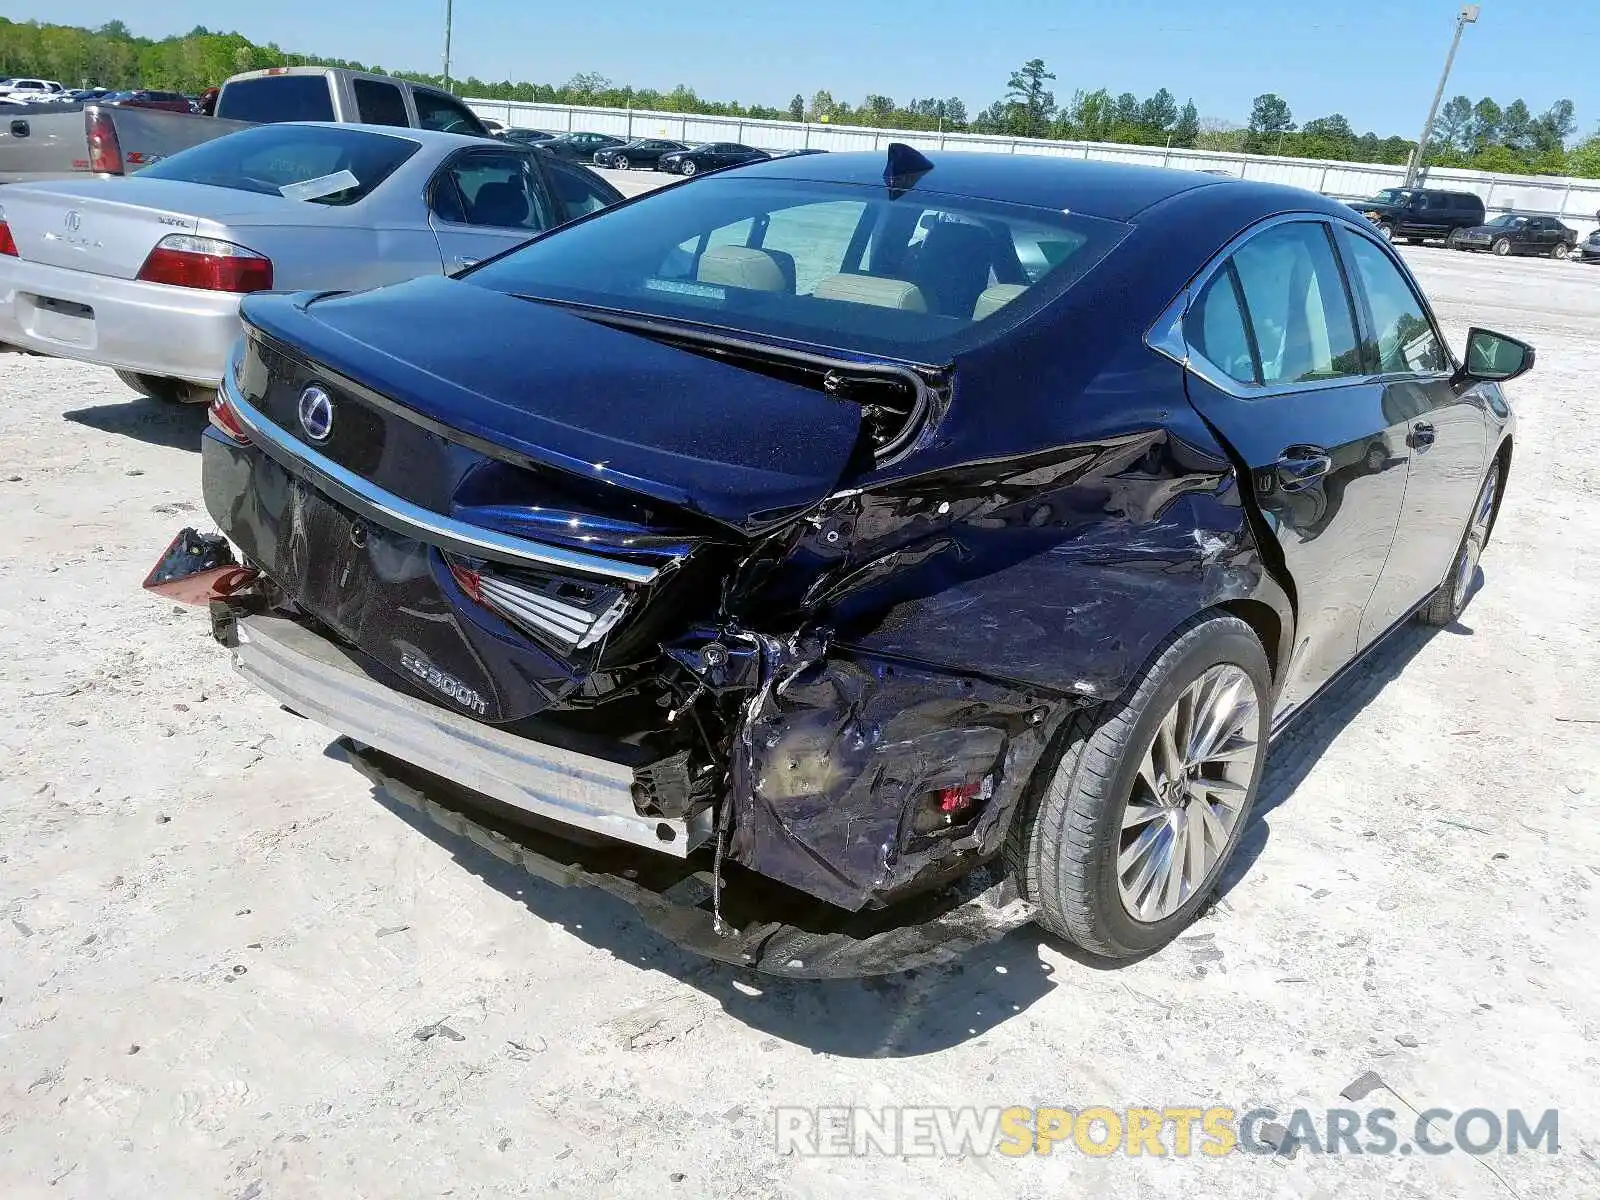
[[[373,486],[352,470],[341,467],[326,454],[320,454],[306,443],[290,437],[266,413],[251,405],[238,394],[232,378],[222,379],[222,390],[229,406],[238,419],[250,429],[258,445],[278,462],[288,467],[301,467],[317,475],[317,483],[339,504],[355,510],[368,520],[378,522],[384,528],[402,533],[408,538],[438,546],[458,554],[477,555],[494,562],[506,562],[525,566],[555,568],[576,574],[592,574],[606,579],[619,579],[626,584],[654,582],[664,568],[642,566],[638,563],[602,558],[582,550],[568,550],[549,542],[536,542],[528,538],[514,538],[498,530],[486,530],[480,525],[445,517],[443,514],[424,509],[411,501],[395,496],[392,491]]]

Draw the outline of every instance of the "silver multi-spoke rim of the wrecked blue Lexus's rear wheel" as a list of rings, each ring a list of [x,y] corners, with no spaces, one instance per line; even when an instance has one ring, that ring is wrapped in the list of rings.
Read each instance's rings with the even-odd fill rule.
[[[1218,869],[1250,798],[1261,744],[1261,698],[1221,662],[1162,717],[1122,814],[1117,888],[1134,920],[1158,922]]]

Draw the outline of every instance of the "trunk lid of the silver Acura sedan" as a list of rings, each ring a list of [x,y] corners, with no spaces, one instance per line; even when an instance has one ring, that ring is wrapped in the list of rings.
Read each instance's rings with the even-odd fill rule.
[[[134,278],[168,234],[216,235],[202,222],[282,213],[278,195],[205,187],[178,179],[74,179],[13,184],[5,214],[18,256],[29,262]]]

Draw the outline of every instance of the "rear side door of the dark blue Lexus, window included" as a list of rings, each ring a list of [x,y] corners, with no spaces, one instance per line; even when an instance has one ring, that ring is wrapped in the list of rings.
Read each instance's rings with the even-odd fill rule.
[[[1325,221],[1283,218],[1190,291],[1189,398],[1248,467],[1298,602],[1278,712],[1360,646],[1405,499],[1405,426],[1384,408]]]

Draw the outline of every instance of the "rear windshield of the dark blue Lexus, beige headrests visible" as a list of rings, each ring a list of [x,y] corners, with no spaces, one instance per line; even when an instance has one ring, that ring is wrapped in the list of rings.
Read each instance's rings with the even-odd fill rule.
[[[466,278],[931,362],[1061,294],[1126,232],[1101,218],[882,184],[726,174],[568,226]]]

